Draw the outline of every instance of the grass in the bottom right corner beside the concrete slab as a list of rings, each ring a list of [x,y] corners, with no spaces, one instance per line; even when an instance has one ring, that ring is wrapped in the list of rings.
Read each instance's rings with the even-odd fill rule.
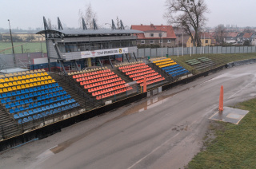
[[[235,108],[250,112],[238,125],[214,122],[210,130],[216,138],[206,151],[190,161],[187,168],[256,168],[256,99]]]

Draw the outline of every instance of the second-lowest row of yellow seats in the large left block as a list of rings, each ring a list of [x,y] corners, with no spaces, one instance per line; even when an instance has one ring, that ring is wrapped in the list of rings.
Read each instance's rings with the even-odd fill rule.
[[[0,88],[7,88],[7,87],[12,87],[15,85],[26,85],[26,84],[30,84],[30,83],[34,83],[34,82],[38,82],[38,81],[46,81],[46,80],[50,80],[52,79],[50,76],[46,76],[46,77],[38,77],[38,78],[33,78],[33,79],[26,79],[26,80],[22,80],[22,81],[13,81],[13,82],[7,82],[7,83],[0,83]]]

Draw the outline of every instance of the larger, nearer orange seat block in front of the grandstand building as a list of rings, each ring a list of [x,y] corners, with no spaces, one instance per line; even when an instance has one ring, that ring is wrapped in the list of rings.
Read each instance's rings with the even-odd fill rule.
[[[130,85],[127,85],[121,77],[118,77],[118,75],[107,68],[90,69],[73,74],[70,73],[70,76],[72,76],[74,81],[78,82],[90,96],[95,97],[97,100],[133,89]]]

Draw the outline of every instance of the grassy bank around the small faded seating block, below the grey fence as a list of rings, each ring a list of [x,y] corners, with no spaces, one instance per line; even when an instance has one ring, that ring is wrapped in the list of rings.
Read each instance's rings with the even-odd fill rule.
[[[185,56],[170,56],[171,59],[176,61],[179,65],[182,65],[185,69],[189,71],[195,71],[193,67],[186,64],[186,61],[191,59],[198,59],[198,57],[208,57],[216,65],[214,67],[218,67],[220,65],[225,65],[226,63],[232,62],[232,61],[242,61],[242,60],[248,60],[256,58],[256,53],[231,53],[231,54],[194,54],[190,57],[190,55]],[[213,68],[209,68],[213,69]],[[205,71],[206,69],[202,69],[201,72]],[[195,71],[198,73],[197,71]]]

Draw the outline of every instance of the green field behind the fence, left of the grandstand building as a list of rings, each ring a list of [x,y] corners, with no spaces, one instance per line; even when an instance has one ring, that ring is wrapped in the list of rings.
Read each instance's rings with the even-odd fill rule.
[[[42,52],[46,53],[46,42],[42,41],[40,42],[14,42],[14,52],[15,53],[22,53],[22,47],[23,47],[23,53],[35,53],[35,52],[41,52],[41,44],[42,44]],[[17,46],[18,45],[18,46]],[[16,47],[15,47],[16,46]],[[3,49],[11,48],[10,42],[0,42],[0,51]],[[12,49],[8,49],[5,51],[0,52],[0,54],[10,54],[12,53]]]

